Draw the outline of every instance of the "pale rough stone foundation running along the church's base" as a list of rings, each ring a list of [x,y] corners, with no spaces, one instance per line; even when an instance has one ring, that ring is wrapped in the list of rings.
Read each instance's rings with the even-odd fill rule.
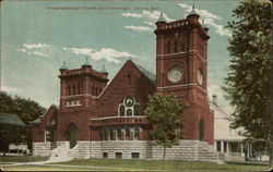
[[[34,156],[50,156],[50,143],[34,143]],[[62,150],[63,152],[57,151]],[[64,152],[66,151],[66,152]],[[57,142],[57,148],[51,153],[72,158],[122,158],[122,159],[163,159],[164,148],[153,146],[147,140],[79,140],[72,149],[69,142]],[[66,153],[66,155],[63,155]],[[204,142],[180,140],[179,146],[166,149],[167,160],[213,161],[223,160],[213,148]]]

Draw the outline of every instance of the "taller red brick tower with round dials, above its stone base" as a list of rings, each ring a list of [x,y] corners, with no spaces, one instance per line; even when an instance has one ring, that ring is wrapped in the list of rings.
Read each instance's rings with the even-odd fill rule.
[[[187,19],[156,22],[156,91],[174,94],[185,109],[183,139],[213,144],[213,112],[206,89],[209,28],[199,23],[194,7]]]

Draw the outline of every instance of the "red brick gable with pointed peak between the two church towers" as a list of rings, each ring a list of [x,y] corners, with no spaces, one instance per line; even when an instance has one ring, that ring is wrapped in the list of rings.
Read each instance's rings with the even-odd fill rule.
[[[129,60],[98,97],[98,116],[117,116],[119,105],[128,96],[140,103],[142,113],[147,103],[147,96],[155,90],[155,76]]]

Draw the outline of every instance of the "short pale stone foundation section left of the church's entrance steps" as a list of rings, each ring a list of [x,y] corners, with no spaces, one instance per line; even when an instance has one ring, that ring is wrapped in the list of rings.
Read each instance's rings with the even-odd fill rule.
[[[33,143],[33,156],[49,157],[50,156],[50,142]]]

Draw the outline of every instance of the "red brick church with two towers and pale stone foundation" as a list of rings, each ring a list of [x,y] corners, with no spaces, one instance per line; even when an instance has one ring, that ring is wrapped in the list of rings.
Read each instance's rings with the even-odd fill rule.
[[[33,122],[34,156],[161,159],[143,111],[149,95],[171,93],[189,108],[180,145],[167,148],[166,158],[216,160],[206,89],[210,36],[199,17],[193,8],[185,20],[157,20],[156,74],[128,60],[109,82],[107,71],[94,70],[87,59],[80,69],[63,63],[59,106]]]

